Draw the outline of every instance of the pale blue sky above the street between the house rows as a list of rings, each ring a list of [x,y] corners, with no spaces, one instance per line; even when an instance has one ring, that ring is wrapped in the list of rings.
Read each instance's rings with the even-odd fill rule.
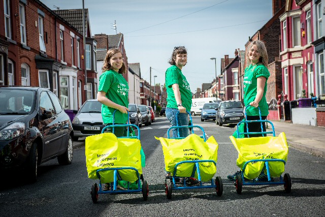
[[[47,7],[81,9],[82,0],[41,0]],[[175,46],[187,49],[183,67],[193,93],[220,75],[221,58],[235,57],[272,17],[272,0],[84,0],[91,34],[124,35],[128,63],[140,63],[141,77],[165,84]],[[157,76],[155,79],[153,76]]]

